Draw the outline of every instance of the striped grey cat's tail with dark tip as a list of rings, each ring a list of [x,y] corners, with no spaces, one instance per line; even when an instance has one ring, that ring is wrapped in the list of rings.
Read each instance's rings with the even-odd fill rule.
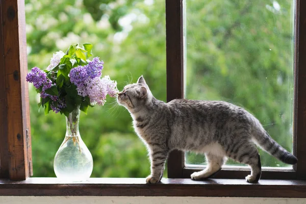
[[[286,164],[296,164],[297,158],[293,156],[290,152],[279,145],[275,140],[273,140],[270,135],[263,130],[259,134],[254,134],[253,139],[267,151],[270,155],[276,157]]]

